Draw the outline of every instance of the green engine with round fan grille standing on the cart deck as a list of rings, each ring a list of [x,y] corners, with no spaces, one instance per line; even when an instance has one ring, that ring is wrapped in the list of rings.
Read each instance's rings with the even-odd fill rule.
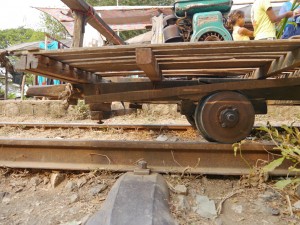
[[[175,2],[174,14],[163,21],[165,42],[231,41],[224,27],[224,17],[230,12],[232,3],[232,0]]]

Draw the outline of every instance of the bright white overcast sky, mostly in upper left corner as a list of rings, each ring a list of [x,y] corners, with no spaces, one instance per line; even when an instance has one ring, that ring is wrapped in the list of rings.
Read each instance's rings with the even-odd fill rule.
[[[234,2],[249,2],[251,0],[234,0]],[[60,0],[0,0],[0,30],[9,28],[42,29],[41,13],[32,7],[66,7]],[[174,0],[175,2],[175,0]],[[122,0],[119,0],[122,5]]]

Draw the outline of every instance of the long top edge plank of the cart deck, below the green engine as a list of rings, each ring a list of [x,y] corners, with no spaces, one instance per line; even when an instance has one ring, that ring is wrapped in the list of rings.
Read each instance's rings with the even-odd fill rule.
[[[127,46],[103,46],[93,48],[74,48],[74,49],[61,49],[58,51],[41,51],[39,54],[49,55],[56,57],[68,52],[69,56],[78,54],[93,54],[93,53],[115,53],[116,55],[130,51],[134,52],[135,48],[149,47],[155,55],[166,54],[182,54],[189,51],[194,54],[201,52],[203,54],[211,53],[245,53],[245,52],[278,52],[290,51],[299,48],[300,40],[274,40],[274,41],[248,41],[248,42],[197,42],[197,43],[168,43],[168,44],[151,44],[151,45],[127,45]],[[201,51],[200,51],[201,50]],[[203,52],[202,52],[203,51]]]

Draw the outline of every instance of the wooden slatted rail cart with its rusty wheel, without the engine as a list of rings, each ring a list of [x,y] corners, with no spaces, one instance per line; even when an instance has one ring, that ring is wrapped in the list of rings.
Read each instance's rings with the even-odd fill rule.
[[[67,92],[69,101],[83,98],[99,120],[117,113],[114,101],[130,108],[176,103],[207,140],[222,143],[247,137],[255,114],[267,113],[267,100],[300,100],[299,66],[299,39],[36,51],[17,64],[70,83],[33,87],[29,95]]]

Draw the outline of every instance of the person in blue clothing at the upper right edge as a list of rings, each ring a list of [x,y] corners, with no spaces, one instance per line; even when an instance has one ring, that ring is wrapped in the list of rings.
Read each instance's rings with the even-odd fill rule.
[[[293,2],[299,0],[291,0],[283,3],[280,8],[279,14],[284,14],[292,9]],[[300,10],[300,6],[295,10],[298,14]],[[282,39],[290,38],[294,35],[300,35],[300,16],[291,17],[288,19],[288,24],[285,26],[283,34],[281,36]]]

